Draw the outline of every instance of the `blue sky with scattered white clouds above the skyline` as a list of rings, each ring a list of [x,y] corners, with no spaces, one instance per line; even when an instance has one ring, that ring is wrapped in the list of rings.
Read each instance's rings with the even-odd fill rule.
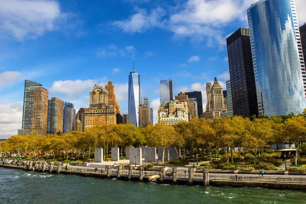
[[[140,74],[157,122],[159,82],[173,93],[202,91],[230,79],[226,38],[248,27],[256,0],[0,0],[0,139],[21,128],[24,80],[49,98],[89,107],[95,84],[112,81],[127,114],[129,73]],[[306,1],[295,0],[299,24]],[[205,111],[205,110],[203,110]]]

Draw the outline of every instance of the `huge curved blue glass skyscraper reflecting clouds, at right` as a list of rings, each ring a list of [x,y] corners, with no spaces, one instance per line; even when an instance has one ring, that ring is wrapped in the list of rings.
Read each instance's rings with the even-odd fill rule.
[[[306,74],[294,1],[260,0],[247,18],[259,114],[301,113]]]

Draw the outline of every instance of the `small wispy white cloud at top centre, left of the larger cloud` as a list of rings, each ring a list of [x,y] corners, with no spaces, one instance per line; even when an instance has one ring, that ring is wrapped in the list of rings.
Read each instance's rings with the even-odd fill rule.
[[[115,20],[111,25],[122,30],[124,33],[143,33],[150,28],[163,27],[162,17],[166,12],[158,7],[148,13],[145,9],[135,8],[136,14],[126,20]]]

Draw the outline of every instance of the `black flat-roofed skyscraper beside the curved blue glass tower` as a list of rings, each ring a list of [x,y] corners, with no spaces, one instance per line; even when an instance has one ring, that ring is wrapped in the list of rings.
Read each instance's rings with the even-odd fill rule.
[[[226,39],[234,115],[258,115],[249,29],[240,28]],[[228,110],[227,110],[228,111]]]

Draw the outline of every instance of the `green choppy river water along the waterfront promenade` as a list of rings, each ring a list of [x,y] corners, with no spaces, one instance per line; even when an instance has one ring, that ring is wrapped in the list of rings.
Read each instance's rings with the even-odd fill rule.
[[[306,203],[306,191],[162,185],[0,168],[0,203]]]

